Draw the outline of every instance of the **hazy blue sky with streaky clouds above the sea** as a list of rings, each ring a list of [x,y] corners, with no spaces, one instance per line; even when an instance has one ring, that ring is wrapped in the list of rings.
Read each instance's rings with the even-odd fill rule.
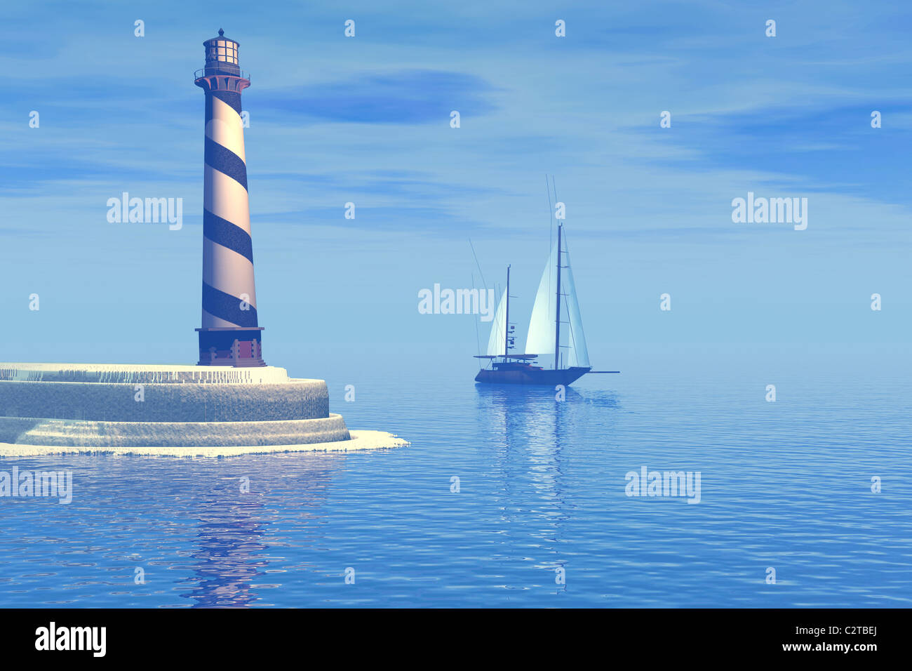
[[[881,2],[6,3],[0,360],[195,362],[193,71],[220,27],[252,82],[267,362],[472,369],[488,324],[420,314],[418,292],[495,288],[507,264],[524,341],[545,175],[596,368],[687,346],[907,353],[910,19]],[[182,198],[183,227],[109,223],[122,192]],[[748,192],[807,198],[807,228],[733,223]]]

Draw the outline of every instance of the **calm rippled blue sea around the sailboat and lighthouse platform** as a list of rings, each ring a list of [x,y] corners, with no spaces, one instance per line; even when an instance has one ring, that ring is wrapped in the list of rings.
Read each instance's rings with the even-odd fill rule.
[[[606,351],[620,374],[564,390],[476,384],[471,353],[323,359],[331,410],[395,449],[0,458],[73,474],[68,504],[0,498],[0,605],[912,605],[905,359]]]

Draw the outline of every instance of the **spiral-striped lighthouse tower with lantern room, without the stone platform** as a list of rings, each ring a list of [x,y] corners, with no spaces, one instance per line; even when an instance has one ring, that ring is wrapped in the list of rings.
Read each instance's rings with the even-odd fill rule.
[[[223,30],[202,45],[206,66],[194,82],[206,93],[199,365],[264,366],[241,121],[250,79],[239,66],[239,44]]]

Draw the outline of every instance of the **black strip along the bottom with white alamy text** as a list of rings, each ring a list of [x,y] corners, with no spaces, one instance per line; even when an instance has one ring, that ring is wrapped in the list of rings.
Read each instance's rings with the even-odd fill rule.
[[[353,645],[375,652],[392,646],[400,661],[419,650],[437,650],[469,663],[478,659],[472,651],[494,648],[505,654],[506,646],[513,662],[564,650],[574,656],[592,652],[603,661],[633,653],[637,664],[652,659],[659,667],[741,659],[829,664],[837,658],[863,666],[902,655],[907,619],[907,610],[856,609],[0,610],[0,649],[5,662],[52,656],[54,661],[90,661],[103,652],[104,658],[145,665],[173,661],[179,654],[181,666],[236,664],[248,656],[255,661],[266,651],[274,658],[319,650],[336,651],[329,652],[335,657],[342,651],[341,660]],[[51,623],[54,645],[49,644]],[[74,633],[73,627],[80,630]],[[93,627],[104,627],[103,650],[101,630]],[[63,646],[77,647],[80,638],[82,650],[50,649],[65,639],[73,643]]]

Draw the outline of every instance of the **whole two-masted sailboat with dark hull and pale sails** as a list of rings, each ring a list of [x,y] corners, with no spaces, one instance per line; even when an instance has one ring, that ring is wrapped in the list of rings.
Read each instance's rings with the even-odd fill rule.
[[[476,359],[489,359],[490,367],[475,376],[477,383],[568,385],[593,371],[586,350],[583,320],[576,300],[576,285],[570,268],[570,253],[565,248],[564,225],[557,226],[557,245],[551,250],[538,283],[538,292],[529,320],[525,352],[513,354],[515,324],[510,322],[510,267],[507,287],[501,295],[488,338],[488,353]],[[565,328],[561,328],[562,325]],[[565,344],[562,344],[563,341]],[[542,360],[539,365],[537,359]],[[554,367],[549,366],[552,361]]]

